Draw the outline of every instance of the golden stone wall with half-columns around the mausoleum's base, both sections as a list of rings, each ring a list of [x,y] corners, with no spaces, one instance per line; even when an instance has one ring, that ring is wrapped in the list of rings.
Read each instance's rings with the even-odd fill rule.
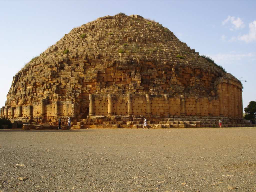
[[[219,84],[219,97],[198,97],[196,95],[168,94],[90,94],[89,116],[93,115],[168,115],[184,116],[225,116],[242,118],[241,89],[234,84]],[[55,116],[73,116],[82,114],[80,105],[71,101],[56,101],[29,106],[5,106],[1,116],[10,119],[41,116],[42,119],[55,119]]]

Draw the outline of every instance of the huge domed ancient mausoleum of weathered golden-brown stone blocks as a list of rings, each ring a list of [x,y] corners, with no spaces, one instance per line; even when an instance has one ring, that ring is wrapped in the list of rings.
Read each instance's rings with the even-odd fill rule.
[[[247,126],[242,84],[167,28],[138,15],[98,18],[14,77],[1,116],[72,127]]]

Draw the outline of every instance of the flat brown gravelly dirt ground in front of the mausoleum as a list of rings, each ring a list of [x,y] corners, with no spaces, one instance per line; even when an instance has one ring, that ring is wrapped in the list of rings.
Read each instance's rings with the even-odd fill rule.
[[[256,128],[0,130],[0,191],[256,191]]]

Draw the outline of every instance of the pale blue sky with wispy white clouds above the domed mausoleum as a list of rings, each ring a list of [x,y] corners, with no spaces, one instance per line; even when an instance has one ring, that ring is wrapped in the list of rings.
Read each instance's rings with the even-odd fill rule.
[[[13,76],[74,27],[120,12],[154,20],[243,84],[243,108],[256,100],[255,0],[0,0],[0,107]]]

